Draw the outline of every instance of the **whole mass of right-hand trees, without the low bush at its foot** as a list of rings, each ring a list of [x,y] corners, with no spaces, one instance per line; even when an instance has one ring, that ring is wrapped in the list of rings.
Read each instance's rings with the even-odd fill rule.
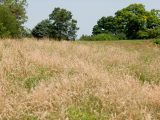
[[[125,34],[128,39],[148,39],[160,36],[160,11],[146,11],[142,4],[131,4],[115,13],[102,17],[93,27],[93,35]]]

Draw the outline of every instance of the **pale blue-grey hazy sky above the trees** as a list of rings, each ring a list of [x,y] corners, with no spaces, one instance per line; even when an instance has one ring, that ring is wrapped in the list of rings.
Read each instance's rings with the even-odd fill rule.
[[[47,19],[55,7],[72,12],[78,21],[78,37],[90,35],[92,28],[102,16],[113,16],[132,3],[142,3],[147,10],[160,9],[160,0],[28,0],[25,26],[32,29],[37,23]]]

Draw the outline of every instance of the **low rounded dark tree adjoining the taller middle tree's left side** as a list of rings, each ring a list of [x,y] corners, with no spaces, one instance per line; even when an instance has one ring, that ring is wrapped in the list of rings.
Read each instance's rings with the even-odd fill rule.
[[[49,37],[50,35],[50,20],[46,19],[38,23],[35,28],[32,30],[32,35],[38,39]]]

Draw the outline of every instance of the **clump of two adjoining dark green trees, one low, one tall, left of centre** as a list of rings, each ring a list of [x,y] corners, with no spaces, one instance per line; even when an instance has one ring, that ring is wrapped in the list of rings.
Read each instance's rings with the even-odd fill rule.
[[[49,20],[39,23],[32,34],[36,38],[54,38],[57,40],[75,40],[77,21],[72,19],[72,13],[65,9],[55,8],[49,15]]]

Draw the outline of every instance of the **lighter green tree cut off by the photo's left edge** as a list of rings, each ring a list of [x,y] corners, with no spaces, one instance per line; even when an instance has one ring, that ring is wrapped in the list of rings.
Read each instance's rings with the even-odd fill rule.
[[[23,37],[27,20],[26,0],[2,0],[0,4],[0,37]]]

